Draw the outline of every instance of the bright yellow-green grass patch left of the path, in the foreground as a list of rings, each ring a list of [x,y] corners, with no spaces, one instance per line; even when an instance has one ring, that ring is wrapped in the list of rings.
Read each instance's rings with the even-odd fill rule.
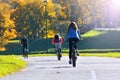
[[[6,76],[13,72],[18,72],[22,68],[26,67],[26,62],[20,58],[12,56],[0,56],[0,77]]]

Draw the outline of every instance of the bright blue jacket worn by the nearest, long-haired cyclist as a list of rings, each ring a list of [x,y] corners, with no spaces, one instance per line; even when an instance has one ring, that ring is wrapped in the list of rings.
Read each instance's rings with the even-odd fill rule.
[[[70,30],[66,34],[66,40],[69,40],[70,38],[77,38],[78,40],[80,40],[81,34],[79,31],[75,31],[73,28],[70,28]]]

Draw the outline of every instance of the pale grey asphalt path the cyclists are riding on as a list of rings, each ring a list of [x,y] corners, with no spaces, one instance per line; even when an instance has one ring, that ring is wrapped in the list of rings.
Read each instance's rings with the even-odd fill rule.
[[[68,64],[68,57],[29,57],[21,72],[0,80],[120,80],[120,59],[78,57],[77,67]]]

